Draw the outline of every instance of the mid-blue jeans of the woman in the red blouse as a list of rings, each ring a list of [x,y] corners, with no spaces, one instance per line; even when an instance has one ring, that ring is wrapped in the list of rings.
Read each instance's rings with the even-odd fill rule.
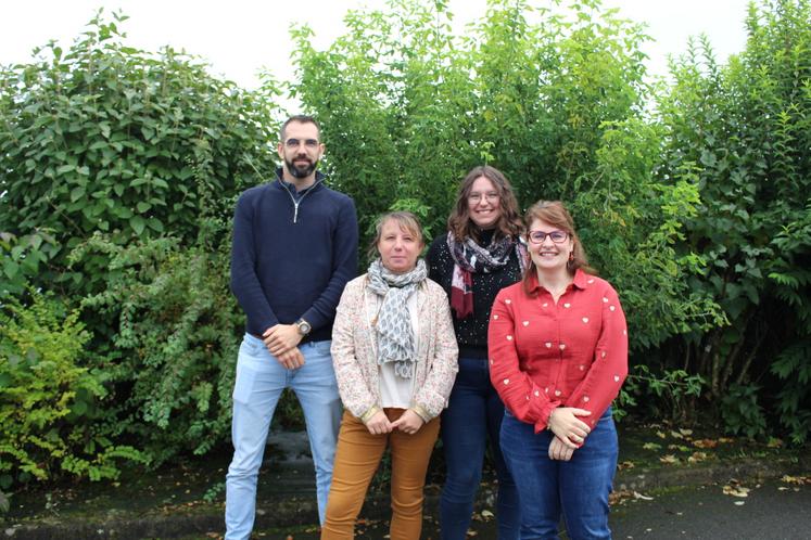
[[[570,461],[549,459],[553,437],[505,413],[502,451],[521,500],[521,540],[557,539],[561,512],[571,540],[611,538],[608,494],[618,454],[611,408]]]

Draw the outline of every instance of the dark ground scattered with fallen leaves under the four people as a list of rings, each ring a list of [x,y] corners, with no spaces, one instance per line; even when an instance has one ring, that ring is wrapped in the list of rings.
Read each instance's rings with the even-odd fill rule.
[[[277,434],[259,475],[254,538],[318,538],[313,465],[305,434]],[[66,483],[14,493],[0,536],[25,540],[218,539],[225,471],[220,452],[116,483]],[[436,460],[441,462],[441,459]],[[610,525],[614,539],[811,539],[811,451],[668,426],[620,433]],[[433,466],[433,465],[432,465]],[[486,473],[486,471],[485,471]],[[439,539],[441,463],[427,486],[424,539]],[[383,539],[382,481],[367,498],[358,539]],[[480,489],[472,539],[496,539],[491,474]],[[561,536],[566,539],[566,536]]]

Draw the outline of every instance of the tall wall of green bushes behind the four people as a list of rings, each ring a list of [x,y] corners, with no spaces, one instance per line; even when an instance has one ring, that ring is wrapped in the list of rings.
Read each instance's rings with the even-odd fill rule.
[[[393,0],[321,51],[294,28],[295,80],[258,91],[128,47],[118,14],[0,70],[0,490],[227,442],[230,214],[273,178],[286,94],[321,121],[367,240],[393,208],[441,234],[481,163],[523,206],[566,201],[629,317],[620,415],[807,442],[809,2],[752,5],[739,55],[697,38],[656,82],[644,28],[596,0],[493,0],[467,37],[451,17]],[[25,395],[41,415],[21,420]]]

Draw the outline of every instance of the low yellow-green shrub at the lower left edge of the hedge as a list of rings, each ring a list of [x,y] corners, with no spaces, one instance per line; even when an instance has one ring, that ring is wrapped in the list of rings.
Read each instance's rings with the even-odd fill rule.
[[[63,473],[115,478],[119,461],[144,457],[99,423],[107,375],[83,367],[90,333],[62,303],[31,298],[0,312],[0,488]]]

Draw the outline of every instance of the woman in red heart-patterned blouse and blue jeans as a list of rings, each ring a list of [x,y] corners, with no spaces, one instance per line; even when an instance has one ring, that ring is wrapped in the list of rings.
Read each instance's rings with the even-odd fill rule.
[[[625,316],[617,292],[588,268],[562,203],[536,203],[525,222],[531,263],[496,296],[487,333],[521,539],[557,538],[561,513],[572,540],[610,538],[610,404],[628,374]]]

